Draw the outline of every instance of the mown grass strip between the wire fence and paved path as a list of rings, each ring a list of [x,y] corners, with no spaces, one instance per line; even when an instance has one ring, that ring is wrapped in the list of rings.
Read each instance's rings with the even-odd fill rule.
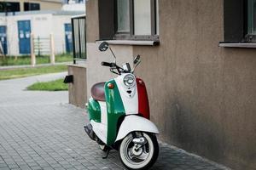
[[[0,80],[67,71],[67,65],[50,65],[0,71]]]

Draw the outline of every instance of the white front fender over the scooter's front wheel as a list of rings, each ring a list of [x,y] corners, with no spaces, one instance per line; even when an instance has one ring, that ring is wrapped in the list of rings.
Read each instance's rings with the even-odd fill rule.
[[[153,122],[150,122],[148,119],[145,119],[142,116],[125,116],[124,121],[119,127],[119,133],[115,142],[120,139],[124,139],[125,136],[131,132],[141,131],[148,133],[159,133],[158,128],[154,125]]]

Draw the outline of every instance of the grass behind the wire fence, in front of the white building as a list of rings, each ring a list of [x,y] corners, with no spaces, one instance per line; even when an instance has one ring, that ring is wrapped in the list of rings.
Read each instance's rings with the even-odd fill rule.
[[[39,64],[47,64],[49,63],[49,56],[37,56],[37,65]],[[73,57],[71,54],[57,54],[55,55],[55,62],[68,62],[72,61]],[[0,57],[0,66],[7,66],[7,65],[30,65],[31,64],[31,57],[28,55],[14,57],[14,56],[6,56],[5,58]]]

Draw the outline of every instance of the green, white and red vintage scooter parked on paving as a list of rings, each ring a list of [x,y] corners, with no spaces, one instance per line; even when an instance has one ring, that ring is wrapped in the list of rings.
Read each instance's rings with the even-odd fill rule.
[[[102,42],[100,51],[112,49],[108,42]],[[96,83],[91,88],[91,98],[86,104],[90,124],[85,132],[95,140],[103,151],[119,150],[119,157],[128,169],[148,169],[152,167],[159,153],[155,134],[158,128],[149,121],[148,94],[142,79],[133,72],[140,64],[140,56],[134,59],[134,68],[129,63],[122,67],[102,62],[118,77],[108,82]]]

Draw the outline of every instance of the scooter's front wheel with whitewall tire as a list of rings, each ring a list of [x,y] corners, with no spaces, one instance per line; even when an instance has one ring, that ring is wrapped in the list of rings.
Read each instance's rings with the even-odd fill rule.
[[[131,133],[129,133],[119,145],[120,160],[127,169],[148,169],[154,165],[159,154],[157,139],[152,133],[137,132],[136,136],[143,136],[147,143],[143,144],[138,150],[134,150],[135,144],[132,142],[133,137]],[[134,151],[136,154],[133,153]],[[132,154],[134,155],[131,156]]]

